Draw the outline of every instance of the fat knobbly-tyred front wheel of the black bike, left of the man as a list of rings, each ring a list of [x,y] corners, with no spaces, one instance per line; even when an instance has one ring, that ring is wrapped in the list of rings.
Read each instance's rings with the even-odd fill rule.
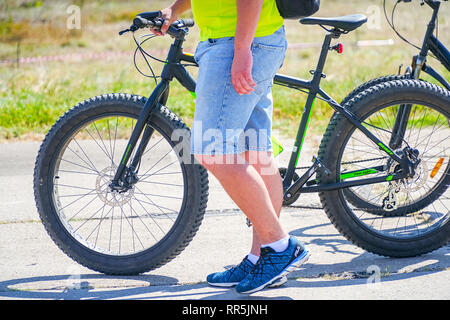
[[[180,152],[173,137],[187,145],[189,129],[164,106],[147,124],[153,134],[138,182],[123,192],[109,187],[145,100],[112,94],[77,105],[52,127],[36,161],[35,198],[47,232],[72,259],[102,273],[164,265],[191,241],[206,208],[206,170]]]

